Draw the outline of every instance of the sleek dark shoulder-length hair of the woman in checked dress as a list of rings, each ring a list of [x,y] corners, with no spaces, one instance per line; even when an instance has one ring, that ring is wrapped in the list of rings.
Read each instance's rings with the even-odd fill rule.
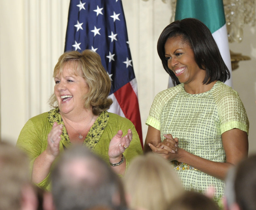
[[[157,52],[162,60],[164,70],[171,76],[173,85],[180,84],[175,74],[167,66],[164,45],[168,38],[182,37],[194,52],[196,64],[206,71],[203,84],[215,80],[225,82],[230,78],[228,67],[224,63],[219,48],[211,31],[198,19],[186,18],[176,20],[164,28],[157,42]]]

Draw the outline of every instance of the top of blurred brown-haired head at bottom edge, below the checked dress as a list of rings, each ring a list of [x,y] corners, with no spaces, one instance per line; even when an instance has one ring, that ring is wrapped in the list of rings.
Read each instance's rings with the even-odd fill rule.
[[[165,210],[219,210],[217,203],[206,195],[186,191],[174,199]]]

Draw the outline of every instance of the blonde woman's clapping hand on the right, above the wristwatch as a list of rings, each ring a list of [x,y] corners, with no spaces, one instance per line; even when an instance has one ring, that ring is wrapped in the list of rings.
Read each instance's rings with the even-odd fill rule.
[[[115,159],[119,157],[125,149],[130,146],[132,141],[132,130],[128,129],[127,134],[123,136],[122,130],[119,130],[117,134],[111,139],[108,147],[109,158]]]

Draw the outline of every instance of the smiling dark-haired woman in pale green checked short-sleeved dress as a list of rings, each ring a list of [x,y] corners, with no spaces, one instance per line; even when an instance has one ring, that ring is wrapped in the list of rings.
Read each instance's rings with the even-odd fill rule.
[[[197,19],[164,28],[158,55],[175,87],[158,93],[144,152],[172,161],[186,189],[224,193],[228,168],[248,155],[249,121],[210,30]]]

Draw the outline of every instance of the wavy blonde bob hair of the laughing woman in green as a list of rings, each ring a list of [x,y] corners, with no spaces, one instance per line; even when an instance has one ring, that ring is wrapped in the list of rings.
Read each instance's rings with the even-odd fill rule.
[[[62,74],[67,64],[73,65],[74,74],[81,75],[88,84],[89,91],[84,96],[84,107],[92,107],[92,113],[95,115],[107,110],[112,104],[112,99],[108,98],[111,81],[101,64],[100,55],[92,50],[64,52],[54,67],[53,78],[57,74]],[[54,94],[50,97],[49,104],[58,107]]]

